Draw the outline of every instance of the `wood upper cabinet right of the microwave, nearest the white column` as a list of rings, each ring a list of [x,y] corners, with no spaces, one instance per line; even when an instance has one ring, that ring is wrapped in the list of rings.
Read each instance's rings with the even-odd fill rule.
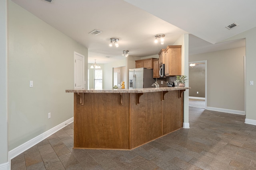
[[[164,51],[165,76],[181,75],[181,45],[169,45]]]

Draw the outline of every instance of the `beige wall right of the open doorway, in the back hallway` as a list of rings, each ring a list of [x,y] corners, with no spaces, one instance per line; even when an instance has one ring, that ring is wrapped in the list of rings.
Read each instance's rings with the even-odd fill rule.
[[[190,55],[207,60],[207,107],[244,111],[245,47]]]

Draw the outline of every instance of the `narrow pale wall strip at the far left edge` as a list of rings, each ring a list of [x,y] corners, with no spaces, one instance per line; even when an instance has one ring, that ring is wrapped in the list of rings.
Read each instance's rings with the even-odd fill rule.
[[[7,0],[0,0],[0,166],[8,162]],[[6,169],[8,165],[6,165]]]

